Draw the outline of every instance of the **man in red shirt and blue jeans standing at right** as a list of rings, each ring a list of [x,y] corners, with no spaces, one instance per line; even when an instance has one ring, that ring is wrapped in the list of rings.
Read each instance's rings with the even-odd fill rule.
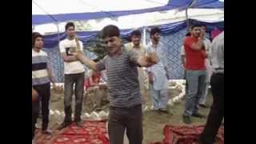
[[[189,87],[183,114],[183,122],[186,124],[191,123],[191,116],[204,118],[198,113],[199,98],[204,94],[206,85],[204,36],[202,26],[197,24],[191,27],[191,36],[184,39],[186,80]]]

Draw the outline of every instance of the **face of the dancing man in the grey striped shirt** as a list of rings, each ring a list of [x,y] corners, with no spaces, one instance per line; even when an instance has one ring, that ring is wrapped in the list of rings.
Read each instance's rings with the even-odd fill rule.
[[[115,54],[122,46],[122,39],[117,36],[104,38],[103,42],[110,54]]]

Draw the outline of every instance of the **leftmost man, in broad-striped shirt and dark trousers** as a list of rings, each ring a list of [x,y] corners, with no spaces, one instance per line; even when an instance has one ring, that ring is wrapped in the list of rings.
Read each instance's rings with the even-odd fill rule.
[[[42,134],[51,134],[51,130],[48,129],[50,82],[53,83],[54,88],[56,86],[50,69],[49,57],[42,50],[42,46],[42,34],[32,33],[32,96],[38,95],[38,98],[34,98],[32,102],[32,139],[38,119],[39,102],[41,102],[42,110]]]

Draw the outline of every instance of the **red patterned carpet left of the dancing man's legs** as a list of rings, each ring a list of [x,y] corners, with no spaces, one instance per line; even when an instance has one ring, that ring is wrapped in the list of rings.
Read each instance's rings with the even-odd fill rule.
[[[53,127],[53,134],[41,134],[36,130],[37,144],[109,144],[106,121],[85,121],[83,127],[78,128],[75,124],[63,130],[56,130],[58,125]]]

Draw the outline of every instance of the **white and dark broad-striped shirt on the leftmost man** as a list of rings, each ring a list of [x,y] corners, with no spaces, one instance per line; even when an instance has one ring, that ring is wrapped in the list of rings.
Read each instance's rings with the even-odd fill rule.
[[[32,86],[38,86],[50,82],[47,72],[48,55],[40,50],[32,49]]]

